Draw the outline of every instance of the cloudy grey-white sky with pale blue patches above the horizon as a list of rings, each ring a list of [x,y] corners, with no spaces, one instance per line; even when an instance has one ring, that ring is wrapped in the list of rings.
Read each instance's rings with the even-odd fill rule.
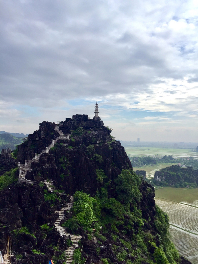
[[[198,1],[1,0],[0,130],[99,116],[116,139],[198,142]]]

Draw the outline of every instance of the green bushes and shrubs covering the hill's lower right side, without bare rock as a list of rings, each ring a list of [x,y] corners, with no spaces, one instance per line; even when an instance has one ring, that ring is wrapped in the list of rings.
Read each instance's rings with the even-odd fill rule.
[[[103,175],[101,178],[104,177],[102,170],[98,170],[98,173]],[[73,217],[63,226],[72,230],[74,234],[78,234],[79,228],[83,228],[88,239],[91,240],[93,235],[97,238],[98,245],[107,240],[107,234],[108,238],[110,235],[116,242],[112,245],[112,250],[118,261],[140,264],[145,261],[144,256],[147,256],[149,264],[176,264],[179,256],[169,240],[167,215],[156,207],[153,221],[155,230],[157,229],[155,234],[151,234],[148,229],[150,220],[142,217],[140,209],[142,180],[133,171],[122,170],[114,183],[116,198],[112,198],[108,194],[112,183],[104,183],[101,178],[98,177],[98,180],[102,187],[98,189],[96,196],[90,197],[82,191],[74,194]],[[147,195],[150,194],[150,190],[148,187]],[[144,226],[145,223],[147,228]],[[96,253],[100,254],[100,248],[97,248]],[[128,258],[128,254],[134,258],[133,262]],[[74,263],[78,261],[85,262],[80,249],[74,253]],[[101,261],[105,264],[111,263],[108,258]]]

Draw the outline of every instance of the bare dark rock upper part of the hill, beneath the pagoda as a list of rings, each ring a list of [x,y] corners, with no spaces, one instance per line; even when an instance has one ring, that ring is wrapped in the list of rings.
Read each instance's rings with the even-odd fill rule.
[[[24,165],[20,163],[20,178],[31,181],[50,178],[67,193],[83,190],[93,194],[100,187],[97,170],[102,169],[108,179],[114,180],[122,169],[132,169],[124,147],[99,119],[77,114],[59,125],[41,123],[39,130],[19,146],[18,161],[24,162],[29,157]],[[35,155],[34,150],[40,154]]]

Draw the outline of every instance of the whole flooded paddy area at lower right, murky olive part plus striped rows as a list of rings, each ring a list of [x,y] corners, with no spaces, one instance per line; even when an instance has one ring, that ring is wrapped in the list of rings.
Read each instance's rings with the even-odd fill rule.
[[[161,188],[155,191],[155,202],[169,217],[171,240],[179,253],[198,264],[198,189]]]

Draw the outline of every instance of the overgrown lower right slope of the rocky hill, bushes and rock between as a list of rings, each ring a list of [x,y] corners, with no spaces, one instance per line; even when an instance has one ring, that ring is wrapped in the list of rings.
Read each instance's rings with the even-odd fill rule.
[[[73,218],[63,224],[76,234],[83,228],[82,259],[89,256],[92,261],[103,258],[103,263],[179,263],[178,252],[169,240],[168,217],[154,205],[153,188],[129,170],[122,170],[116,178],[114,198],[109,196],[107,186],[99,188],[95,197],[77,191]],[[147,214],[143,203],[147,204]]]

